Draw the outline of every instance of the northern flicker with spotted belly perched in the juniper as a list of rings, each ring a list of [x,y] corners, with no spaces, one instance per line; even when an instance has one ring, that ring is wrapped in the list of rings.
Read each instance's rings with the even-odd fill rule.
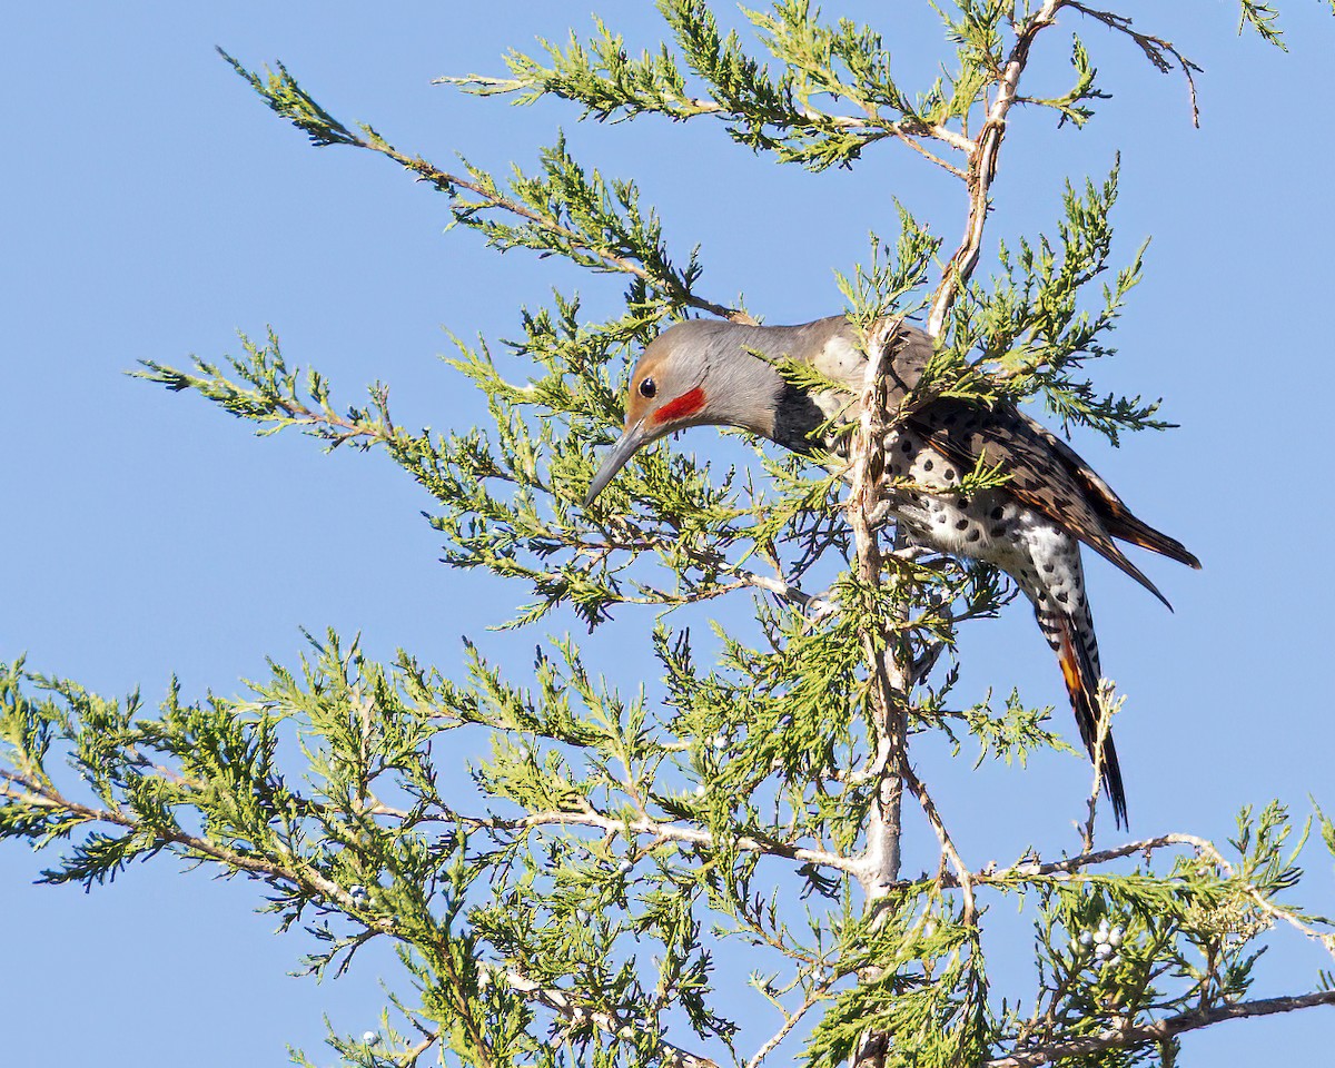
[[[894,413],[933,354],[932,338],[901,323],[892,335],[886,411]],[[776,367],[810,364],[848,391],[802,388]],[[650,442],[694,426],[750,431],[798,454],[833,451],[832,423],[856,418],[866,355],[845,315],[800,326],[752,326],[689,319],[659,332],[637,360],[627,388],[625,430],[585,497],[590,506],[626,462]],[[853,406],[850,409],[850,406]],[[886,505],[908,538],[939,553],[968,557],[1008,574],[1033,603],[1057,654],[1076,725],[1117,826],[1127,826],[1127,794],[1112,734],[1099,749],[1099,643],[1085,594],[1081,543],[1149,593],[1167,598],[1117,541],[1199,569],[1181,542],[1137,519],[1076,451],[1041,423],[1000,400],[991,406],[934,398],[910,409],[884,439]],[[980,459],[1007,481],[967,493],[961,478]],[[900,479],[904,489],[896,489]]]

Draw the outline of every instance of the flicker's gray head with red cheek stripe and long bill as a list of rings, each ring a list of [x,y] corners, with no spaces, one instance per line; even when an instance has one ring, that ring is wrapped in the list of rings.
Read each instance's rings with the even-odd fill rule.
[[[770,437],[784,379],[748,348],[764,350],[764,327],[692,319],[645,348],[630,375],[626,429],[585,497],[587,506],[639,449],[674,430],[737,426]]]

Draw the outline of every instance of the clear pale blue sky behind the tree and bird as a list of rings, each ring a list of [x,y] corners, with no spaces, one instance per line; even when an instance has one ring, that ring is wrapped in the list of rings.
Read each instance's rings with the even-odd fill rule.
[[[920,4],[896,7],[906,11],[886,20],[878,4],[826,4],[880,20],[904,41],[905,69],[926,77],[936,52],[918,49],[939,48],[939,35]],[[1206,68],[1199,131],[1179,77],[1083,28],[1115,99],[1079,132],[1019,115],[996,186],[997,232],[1051,230],[1064,178],[1101,178],[1120,150],[1120,248],[1153,236],[1100,382],[1163,395],[1181,429],[1120,450],[1076,441],[1140,515],[1204,562],[1199,574],[1147,563],[1175,614],[1091,566],[1104,669],[1131,696],[1117,730],[1139,833],[1222,837],[1239,805],[1271,797],[1300,810],[1311,793],[1335,809],[1323,538],[1335,518],[1324,322],[1335,224],[1322,111],[1335,20],[1324,5],[1284,7],[1287,56],[1235,36],[1232,0],[1125,5]],[[601,11],[633,44],[655,39],[649,4]],[[680,254],[702,246],[710,296],[744,291],[772,323],[840,310],[832,268],[864,255],[869,228],[893,234],[894,196],[948,236],[963,224],[959,190],[893,148],[856,172],[812,178],[746,155],[709,124],[577,125],[570,108],[514,109],[431,87],[441,75],[499,72],[509,45],[589,25],[585,3],[493,0],[486,15],[425,3],[374,15],[338,3],[7,12],[0,657],[27,651],[39,670],[156,700],[174,672],[187,694],[235,693],[266,655],[295,659],[300,627],[359,630],[375,655],[403,646],[447,670],[461,662],[462,633],[503,655],[553,629],[518,646],[485,635],[525,591],[439,565],[419,515],[430,502],[384,458],[258,439],[195,398],[124,376],[142,358],[235,352],[236,330],[272,324],[288,359],[318,366],[343,400],[382,379],[400,422],[466,426],[479,410],[437,359],[450,347],[443,328],[513,336],[518,307],[545,302],[554,284],[578,284],[594,310],[618,296],[614,280],[443,234],[439,196],[384,160],[312,150],[214,45],[250,65],[280,59],[334,113],[441,164],[455,151],[494,170],[529,164],[563,125],[582,159],[639,180]],[[1047,69],[1060,69],[1063,39],[1044,45]],[[590,645],[646,635],[646,619],[629,619]],[[975,627],[963,655],[976,693],[1017,685],[1064,706],[1023,605]],[[940,753],[921,760],[951,782],[939,800],[967,856],[1073,842],[1068,798],[1088,780],[1075,761],[965,778]],[[284,1043],[315,1052],[324,1012],[348,1031],[375,1027],[375,973],[391,963],[368,957],[323,987],[287,979],[300,940],[270,934],[246,884],[159,862],[85,896],[29,885],[40,866],[0,850],[7,1063],[96,1052],[103,1065],[182,1053],[200,1068],[282,1064]],[[1307,898],[1335,908],[1320,854]],[[1262,996],[1310,987],[1320,964],[1302,948],[1271,956]],[[1244,1064],[1280,1045],[1290,1063],[1316,1065],[1332,1036],[1330,1013],[1307,1013],[1230,1024],[1187,1051]]]

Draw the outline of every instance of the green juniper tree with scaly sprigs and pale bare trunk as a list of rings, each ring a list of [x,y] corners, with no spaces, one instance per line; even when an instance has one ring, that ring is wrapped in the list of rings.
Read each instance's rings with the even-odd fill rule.
[[[937,235],[961,220],[929,227],[901,210],[898,234],[873,236],[838,275],[872,367],[860,419],[834,427],[848,449],[812,463],[748,439],[754,465],[718,471],[665,443],[583,507],[643,344],[682,318],[761,310],[706,294],[696,254],[670,252],[637,186],[581,166],[562,140],[505,183],[467,162],[447,171],[344,124],[282,65],[227,57],[316,146],[407,168],[498,251],[618,276],[623,310],[599,322],[558,294],[519,312],[505,352],[461,342],[453,364],[490,423],[443,434],[395,422],[382,386],[335,403],[272,334],[218,363],[150,362],[143,376],[262,433],[384,450],[429,494],[446,562],[523,590],[515,627],[615,626],[653,649],[658,677],[621,693],[570,637],[542,639],[531,665],[467,643],[454,678],[410,653],[374,662],[328,634],[244,697],[190,700],[174,685],[154,712],[16,662],[0,681],[0,833],[57,850],[44,873],[55,884],[103,882],[162,853],[244,874],[284,929],[314,937],[316,975],[392,943],[403,975],[382,1040],[330,1036],[348,1064],[1167,1065],[1184,1032],[1335,1003],[1327,972],[1307,992],[1248,995],[1276,939],[1335,953],[1335,930],[1291,894],[1312,828],[1335,852],[1320,809],[1299,825],[1278,804],[1243,809],[1227,844],[1165,832],[1108,845],[1095,788],[1077,848],[1040,842],[980,866],[956,848],[951,798],[912,761],[930,734],[961,753],[972,740],[980,761],[1071,746],[1017,694],[956,696],[956,637],[1004,610],[1007,583],[924,557],[878,522],[880,441],[906,410],[888,411],[878,391],[888,326],[917,315],[937,343],[908,407],[1037,399],[1065,429],[1112,441],[1165,426],[1155,403],[1093,378],[1141,275],[1140,254],[1113,262],[1117,168],[1072,183],[1056,231],[1013,248],[988,243],[988,207],[1016,104],[1073,125],[1095,117],[1104,89],[1087,28],[1179,72],[1192,112],[1195,64],[1075,0],[959,0],[941,11],[951,60],[916,89],[892,73],[898,41],[801,0],[748,11],[754,41],[722,32],[698,0],[659,8],[670,40],[658,51],[633,56],[598,21],[587,40],[513,52],[506,77],[447,81],[514,103],[558,97],[595,120],[713,119],[742,148],[812,171],[908,151],[959,183],[957,244]],[[1242,0],[1240,15],[1283,47],[1270,5]],[[1076,33],[1069,88],[1033,88],[1031,55],[1060,47],[1059,24]],[[980,466],[964,485],[1001,481]],[[749,625],[701,635],[678,623],[738,599]],[[1105,686],[1101,729],[1120,702]],[[901,870],[914,836],[936,870]],[[1008,901],[1032,925],[1025,987],[984,952]],[[716,989],[733,947],[749,955],[768,1029],[738,1027],[756,1009]]]

